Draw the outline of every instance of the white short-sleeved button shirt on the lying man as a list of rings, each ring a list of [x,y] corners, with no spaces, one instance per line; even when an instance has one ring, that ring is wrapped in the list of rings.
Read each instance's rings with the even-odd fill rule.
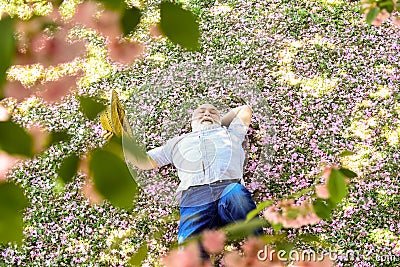
[[[229,128],[216,125],[168,140],[147,154],[159,167],[174,164],[180,184],[177,191],[219,180],[243,180],[242,143],[248,127],[235,117]]]

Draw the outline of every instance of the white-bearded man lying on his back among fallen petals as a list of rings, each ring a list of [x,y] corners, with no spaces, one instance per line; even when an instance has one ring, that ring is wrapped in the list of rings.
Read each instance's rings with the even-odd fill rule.
[[[142,170],[174,164],[180,184],[178,243],[231,222],[256,208],[243,186],[242,143],[252,110],[243,105],[221,118],[211,104],[200,105],[191,118],[192,132],[168,140],[134,162]]]

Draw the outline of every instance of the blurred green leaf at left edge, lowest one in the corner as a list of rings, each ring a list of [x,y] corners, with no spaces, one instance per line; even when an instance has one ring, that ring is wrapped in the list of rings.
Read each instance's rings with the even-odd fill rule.
[[[12,183],[0,183],[0,243],[21,243],[23,209],[28,205],[24,191]]]

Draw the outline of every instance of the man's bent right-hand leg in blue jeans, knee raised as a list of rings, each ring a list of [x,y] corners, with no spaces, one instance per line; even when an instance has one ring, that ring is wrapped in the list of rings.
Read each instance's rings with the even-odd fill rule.
[[[222,192],[218,203],[218,214],[221,226],[229,223],[245,220],[247,213],[256,208],[256,203],[242,184],[229,184]],[[262,229],[257,229],[255,235],[262,234]]]

